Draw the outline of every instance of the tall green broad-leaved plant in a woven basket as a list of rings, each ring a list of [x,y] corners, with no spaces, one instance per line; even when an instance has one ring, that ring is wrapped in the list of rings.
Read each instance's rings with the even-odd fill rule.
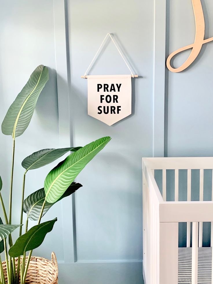
[[[74,179],[111,139],[103,137],[84,147],[42,149],[27,156],[22,162],[25,172],[23,174],[20,224],[12,224],[15,140],[27,129],[38,96],[48,80],[48,68],[39,65],[8,109],[1,126],[3,134],[12,136],[13,146],[9,215],[6,213],[1,195],[2,180],[0,177],[0,202],[4,214],[4,222],[0,218],[0,253],[5,252],[5,261],[2,262],[0,258],[0,284],[58,283],[55,254],[52,254],[51,261],[41,257],[32,257],[33,249],[41,245],[46,234],[52,231],[54,223],[57,221],[55,218],[42,223],[41,218],[56,202],[71,195],[82,186],[75,183]],[[48,173],[44,181],[44,188],[24,199],[27,172],[45,166],[69,151],[72,153]],[[27,214],[25,230],[22,229],[23,212]],[[32,228],[28,228],[29,219],[37,222]],[[14,242],[12,232],[17,228],[19,228],[19,238]]]

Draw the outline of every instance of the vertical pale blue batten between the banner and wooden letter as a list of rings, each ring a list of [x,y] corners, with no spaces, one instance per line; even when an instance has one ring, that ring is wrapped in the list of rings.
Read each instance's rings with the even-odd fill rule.
[[[155,0],[153,70],[153,157],[164,157],[166,0]]]

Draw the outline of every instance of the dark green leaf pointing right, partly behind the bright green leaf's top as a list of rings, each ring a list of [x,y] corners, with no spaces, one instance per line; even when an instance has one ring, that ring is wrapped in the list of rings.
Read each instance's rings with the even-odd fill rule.
[[[26,157],[21,165],[28,170],[34,170],[50,164],[63,156],[65,153],[72,151],[78,151],[81,147],[72,148],[60,148],[60,149],[43,149],[32,153],[32,155]]]

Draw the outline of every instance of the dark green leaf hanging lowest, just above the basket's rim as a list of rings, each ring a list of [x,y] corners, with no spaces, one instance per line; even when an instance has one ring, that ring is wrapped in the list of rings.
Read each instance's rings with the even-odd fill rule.
[[[43,243],[43,240],[47,233],[52,231],[54,223],[57,218],[41,223],[32,227],[28,232],[19,237],[14,245],[9,249],[9,255],[16,257],[23,255],[28,250],[34,250]]]

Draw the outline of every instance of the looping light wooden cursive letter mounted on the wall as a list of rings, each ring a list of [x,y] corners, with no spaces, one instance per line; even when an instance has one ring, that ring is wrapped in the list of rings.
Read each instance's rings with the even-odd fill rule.
[[[167,58],[166,65],[167,68],[171,72],[181,72],[185,70],[187,67],[189,67],[194,60],[197,58],[198,54],[201,51],[201,48],[204,43],[208,43],[210,41],[213,41],[213,37],[210,39],[204,39],[204,34],[205,34],[205,21],[204,21],[204,15],[203,15],[203,8],[201,5],[201,0],[192,0],[192,5],[193,5],[193,10],[194,10],[194,19],[195,19],[195,26],[196,26],[196,33],[195,33],[195,39],[194,43],[184,46],[170,54],[170,56]],[[186,61],[178,68],[173,68],[170,65],[170,61],[173,56],[176,54],[188,50],[192,48],[192,51],[189,55],[189,57],[186,59]]]

